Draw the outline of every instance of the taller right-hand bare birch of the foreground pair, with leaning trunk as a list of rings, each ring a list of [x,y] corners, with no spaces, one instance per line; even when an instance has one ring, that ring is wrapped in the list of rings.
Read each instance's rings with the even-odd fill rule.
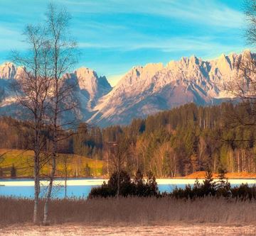
[[[78,106],[78,101],[72,96],[72,91],[76,84],[70,83],[68,79],[63,78],[63,74],[68,72],[77,62],[78,53],[77,44],[74,40],[68,38],[69,22],[70,14],[65,9],[60,9],[54,4],[49,4],[46,13],[46,25],[53,66],[53,76],[51,77],[52,96],[50,97],[50,134],[53,142],[53,152],[50,157],[51,173],[44,206],[43,224],[45,225],[48,224],[48,203],[53,189],[58,143],[63,138],[66,138],[65,131],[70,128],[70,125],[75,123],[75,118],[64,120],[63,115],[74,111],[76,106]]]

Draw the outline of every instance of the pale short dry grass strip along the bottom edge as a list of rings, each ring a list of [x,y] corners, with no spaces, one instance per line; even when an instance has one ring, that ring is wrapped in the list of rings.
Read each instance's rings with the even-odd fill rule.
[[[255,236],[255,225],[218,225],[218,224],[188,224],[176,223],[171,225],[83,225],[69,223],[65,225],[50,225],[41,227],[40,225],[11,225],[0,228],[0,235],[33,235],[33,236],[78,236],[78,235],[97,235],[97,236]]]

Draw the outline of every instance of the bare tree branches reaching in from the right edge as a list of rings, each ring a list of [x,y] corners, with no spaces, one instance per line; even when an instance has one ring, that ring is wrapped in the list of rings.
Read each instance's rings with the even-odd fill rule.
[[[256,45],[256,0],[244,0],[245,40],[247,45]],[[256,125],[256,57],[250,51],[245,52],[235,61],[235,76],[228,82],[225,89],[240,101],[240,106],[250,111],[250,116],[230,112],[231,125]]]

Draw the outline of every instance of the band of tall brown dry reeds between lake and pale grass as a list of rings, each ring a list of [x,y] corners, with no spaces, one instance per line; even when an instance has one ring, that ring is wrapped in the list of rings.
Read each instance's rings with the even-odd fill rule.
[[[40,202],[43,220],[43,201]],[[33,201],[0,198],[0,225],[31,223]],[[195,201],[174,198],[98,198],[62,199],[50,203],[50,223],[92,224],[169,224],[220,223],[253,225],[256,223],[255,201],[202,198]]]

